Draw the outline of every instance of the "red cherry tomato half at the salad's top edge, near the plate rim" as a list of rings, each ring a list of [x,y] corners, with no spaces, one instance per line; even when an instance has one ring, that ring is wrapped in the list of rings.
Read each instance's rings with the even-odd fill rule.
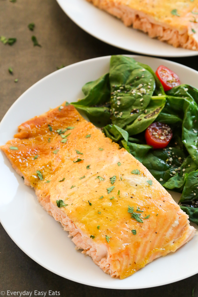
[[[163,65],[160,65],[158,67],[155,74],[161,81],[164,91],[169,91],[173,87],[180,85],[179,76]]]

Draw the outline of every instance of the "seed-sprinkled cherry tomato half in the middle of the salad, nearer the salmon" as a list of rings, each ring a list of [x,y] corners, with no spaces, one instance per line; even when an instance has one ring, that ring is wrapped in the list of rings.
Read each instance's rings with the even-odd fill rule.
[[[167,124],[152,123],[145,132],[146,143],[153,149],[165,148],[172,138],[172,130]]]

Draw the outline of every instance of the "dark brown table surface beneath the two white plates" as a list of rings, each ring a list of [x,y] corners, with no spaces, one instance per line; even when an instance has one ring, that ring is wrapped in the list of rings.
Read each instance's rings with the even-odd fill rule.
[[[27,28],[31,22],[36,25],[34,32]],[[0,35],[17,38],[12,46],[0,43],[0,120],[26,89],[56,71],[57,66],[99,56],[130,53],[84,32],[65,15],[56,0],[17,0],[15,3],[0,0]],[[37,37],[41,48],[33,46],[32,35]],[[169,59],[198,70],[197,56]],[[13,75],[8,72],[9,67],[13,69]],[[14,82],[15,78],[18,78],[17,83]],[[193,259],[188,255],[181,261]],[[191,297],[193,288],[194,296],[198,296],[197,282],[198,274],[173,284],[140,290],[112,290],[78,284],[34,262],[0,225],[0,292],[26,290],[33,291],[34,296],[34,290],[52,290],[59,291],[62,297]]]

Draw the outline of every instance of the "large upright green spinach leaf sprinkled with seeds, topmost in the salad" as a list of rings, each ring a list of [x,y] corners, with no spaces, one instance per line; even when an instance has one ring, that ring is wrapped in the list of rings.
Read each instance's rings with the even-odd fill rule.
[[[132,123],[147,107],[155,89],[151,72],[125,56],[110,60],[112,123],[124,127]]]

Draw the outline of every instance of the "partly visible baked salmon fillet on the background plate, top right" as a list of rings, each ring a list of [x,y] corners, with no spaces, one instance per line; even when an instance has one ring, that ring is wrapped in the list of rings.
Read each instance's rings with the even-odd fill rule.
[[[175,47],[198,50],[198,0],[87,0],[126,26]]]

